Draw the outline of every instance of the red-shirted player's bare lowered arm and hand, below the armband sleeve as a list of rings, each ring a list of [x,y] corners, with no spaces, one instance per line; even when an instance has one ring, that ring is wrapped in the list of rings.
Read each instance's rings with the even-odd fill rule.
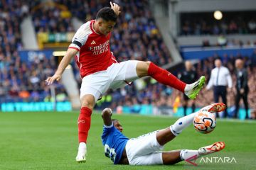
[[[78,50],[75,50],[73,48],[68,48],[68,51],[65,53],[65,56],[61,60],[60,65],[58,66],[58,69],[53,75],[53,77],[48,77],[46,79],[46,82],[48,83],[48,85],[53,84],[53,81],[55,80],[59,81],[61,79],[61,74],[63,74],[65,68],[68,66],[71,59],[75,57],[77,53],[78,53]]]

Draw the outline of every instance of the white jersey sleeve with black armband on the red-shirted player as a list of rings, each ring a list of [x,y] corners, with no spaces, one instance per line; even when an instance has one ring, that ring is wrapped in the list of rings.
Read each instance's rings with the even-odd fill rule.
[[[92,33],[90,29],[90,21],[80,26],[78,31],[75,33],[69,48],[80,50],[82,45],[85,45],[88,36]]]

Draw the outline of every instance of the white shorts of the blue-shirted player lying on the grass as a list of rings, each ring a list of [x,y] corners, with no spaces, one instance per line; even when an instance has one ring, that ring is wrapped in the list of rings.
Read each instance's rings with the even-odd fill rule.
[[[163,164],[164,147],[157,142],[156,132],[128,140],[125,151],[130,165]]]

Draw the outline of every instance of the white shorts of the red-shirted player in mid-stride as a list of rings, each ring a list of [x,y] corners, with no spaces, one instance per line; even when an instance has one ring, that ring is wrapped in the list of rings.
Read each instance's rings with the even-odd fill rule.
[[[82,79],[80,98],[86,94],[100,98],[108,89],[118,89],[127,82],[139,79],[136,66],[139,61],[129,60],[127,62],[114,63],[107,70],[90,74]]]

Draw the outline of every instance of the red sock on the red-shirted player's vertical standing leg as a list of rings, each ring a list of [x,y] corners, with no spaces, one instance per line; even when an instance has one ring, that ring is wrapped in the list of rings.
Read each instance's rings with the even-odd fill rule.
[[[80,115],[78,118],[78,140],[79,142],[87,141],[88,132],[90,130],[92,110],[87,107],[81,108]]]

